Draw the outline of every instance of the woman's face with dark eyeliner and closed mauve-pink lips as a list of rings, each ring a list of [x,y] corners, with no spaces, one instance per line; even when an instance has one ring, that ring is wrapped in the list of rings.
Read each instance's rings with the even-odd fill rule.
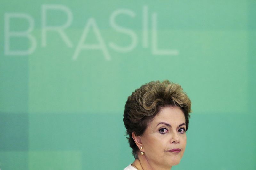
[[[140,136],[143,156],[158,166],[179,164],[187,142],[185,130],[185,116],[180,108],[162,108]]]

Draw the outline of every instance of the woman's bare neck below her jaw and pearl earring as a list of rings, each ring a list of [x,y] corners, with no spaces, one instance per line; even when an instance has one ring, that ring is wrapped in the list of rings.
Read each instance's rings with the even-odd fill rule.
[[[138,170],[170,170],[172,168],[164,168],[155,165],[152,162],[150,163],[145,155],[138,155],[138,159],[135,159],[132,164]]]

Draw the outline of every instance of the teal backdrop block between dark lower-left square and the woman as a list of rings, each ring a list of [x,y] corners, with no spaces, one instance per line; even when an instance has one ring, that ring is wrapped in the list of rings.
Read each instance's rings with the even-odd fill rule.
[[[124,165],[129,164],[127,160],[132,160],[122,113],[30,114],[29,122],[29,150],[33,151],[33,156],[29,155],[29,165],[33,167],[41,165],[41,157],[48,152],[51,158],[63,153],[63,162],[69,161],[69,152],[75,154],[82,169],[104,169],[104,166],[111,169],[115,162],[119,162],[115,168],[122,169]],[[34,159],[34,156],[38,159]],[[56,156],[56,160],[46,158],[52,165],[47,167],[60,165],[59,157]],[[74,168],[79,169],[80,166]]]

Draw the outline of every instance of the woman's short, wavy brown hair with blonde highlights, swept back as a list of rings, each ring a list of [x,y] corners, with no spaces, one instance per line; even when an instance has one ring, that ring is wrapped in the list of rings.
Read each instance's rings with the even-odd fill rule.
[[[136,136],[143,135],[148,124],[159,113],[160,109],[167,106],[179,107],[185,116],[186,131],[191,112],[191,100],[181,86],[168,80],[151,81],[142,85],[128,97],[124,108],[124,125],[132,154],[138,158],[138,147],[132,138],[132,132]]]

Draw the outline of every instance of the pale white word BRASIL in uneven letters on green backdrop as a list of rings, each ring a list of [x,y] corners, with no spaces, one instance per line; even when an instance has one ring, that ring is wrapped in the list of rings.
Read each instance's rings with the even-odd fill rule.
[[[59,26],[51,26],[47,24],[47,13],[49,11],[56,10],[61,11],[64,13],[67,17],[67,20],[65,23]],[[49,14],[49,13],[48,13]],[[138,45],[138,36],[137,34],[132,31],[132,29],[128,29],[125,27],[122,27],[116,23],[116,17],[119,15],[127,15],[131,18],[134,18],[136,14],[134,11],[129,9],[117,9],[113,11],[109,18],[109,24],[110,26],[117,32],[126,34],[130,37],[131,42],[129,42],[127,46],[119,46],[118,44],[115,44],[114,42],[106,42],[104,41],[104,38],[102,37],[100,33],[100,29],[96,24],[96,21],[94,18],[89,18],[87,23],[85,24],[85,27],[83,29],[82,35],[80,37],[80,40],[77,42],[77,45],[75,47],[72,59],[76,60],[81,53],[82,50],[101,50],[104,58],[106,60],[111,60],[111,56],[109,54],[109,49],[111,48],[115,50],[116,52],[120,53],[126,53],[132,51],[137,45]],[[12,19],[23,19],[25,22],[28,22],[28,29],[25,31],[11,31],[10,28],[10,20]],[[68,35],[64,32],[65,29],[71,26],[73,20],[73,14],[72,11],[64,5],[53,5],[53,4],[45,4],[41,6],[41,47],[47,46],[47,33],[48,32],[56,32],[60,35],[62,41],[67,45],[68,48],[73,47],[73,43],[68,38]],[[149,42],[149,31],[148,31],[148,7],[143,6],[142,8],[142,47],[148,48],[148,42]],[[175,49],[159,49],[157,47],[158,38],[157,38],[157,13],[154,12],[151,17],[152,27],[151,27],[151,52],[153,55],[178,55],[178,50]],[[34,30],[34,19],[31,15],[28,15],[26,13],[5,13],[4,15],[4,54],[5,55],[30,55],[36,50],[37,41],[35,36],[31,35],[31,32]],[[94,33],[94,36],[97,39],[96,44],[86,44],[86,37],[89,33],[89,31],[92,30]],[[20,38],[26,38],[31,43],[30,47],[26,50],[11,50],[11,38],[12,37],[20,37]],[[108,46],[107,46],[108,45]]]

